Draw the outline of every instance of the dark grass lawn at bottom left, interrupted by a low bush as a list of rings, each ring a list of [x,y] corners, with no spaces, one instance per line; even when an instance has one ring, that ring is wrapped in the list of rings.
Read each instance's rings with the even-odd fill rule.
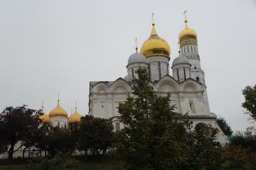
[[[29,159],[0,160],[0,170],[25,170]],[[101,170],[109,169],[120,163],[112,157],[100,157],[99,159],[78,159],[78,169]]]

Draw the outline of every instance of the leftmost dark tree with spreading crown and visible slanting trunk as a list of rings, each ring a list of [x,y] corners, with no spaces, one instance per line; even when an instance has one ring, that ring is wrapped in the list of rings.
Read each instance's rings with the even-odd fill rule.
[[[8,147],[10,159],[21,147],[34,145],[31,141],[34,141],[33,138],[38,133],[39,115],[39,111],[29,109],[26,105],[7,107],[0,114],[0,136]],[[18,142],[20,145],[14,150],[14,145]]]

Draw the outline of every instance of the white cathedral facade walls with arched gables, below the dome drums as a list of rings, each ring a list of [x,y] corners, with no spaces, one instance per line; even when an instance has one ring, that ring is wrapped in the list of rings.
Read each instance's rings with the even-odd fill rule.
[[[127,95],[131,94],[131,87],[124,80],[118,88],[96,85],[90,94],[90,114],[94,117],[111,118],[119,116],[118,105],[124,103]],[[103,90],[105,88],[105,90]],[[171,105],[176,105],[175,111],[182,114],[189,112],[191,115],[210,115],[207,103],[206,87],[192,79],[187,79],[181,84],[172,77],[165,76],[154,84],[154,90],[161,96],[171,93]]]

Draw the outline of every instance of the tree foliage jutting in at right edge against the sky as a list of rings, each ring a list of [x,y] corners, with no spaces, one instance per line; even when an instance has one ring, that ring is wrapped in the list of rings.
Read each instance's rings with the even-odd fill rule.
[[[246,109],[246,114],[250,115],[253,120],[256,120],[256,85],[254,87],[245,87],[242,93],[245,97],[245,102],[242,103],[242,106]]]

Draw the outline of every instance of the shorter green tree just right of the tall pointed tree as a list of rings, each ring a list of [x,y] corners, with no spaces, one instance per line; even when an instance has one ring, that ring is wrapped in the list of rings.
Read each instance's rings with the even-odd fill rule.
[[[183,148],[183,162],[175,169],[221,169],[221,145],[216,142],[218,129],[199,123],[190,130]]]

